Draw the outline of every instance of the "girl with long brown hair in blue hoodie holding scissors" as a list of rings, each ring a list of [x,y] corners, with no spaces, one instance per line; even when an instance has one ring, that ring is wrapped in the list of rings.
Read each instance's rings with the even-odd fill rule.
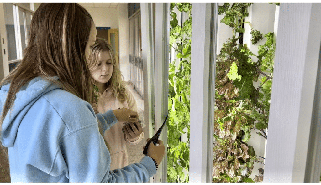
[[[76,3],[42,3],[34,13],[24,57],[0,82],[0,141],[12,182],[147,182],[156,173],[160,140],[139,163],[109,170],[101,133],[138,120],[125,108],[95,114],[87,60],[96,33]]]

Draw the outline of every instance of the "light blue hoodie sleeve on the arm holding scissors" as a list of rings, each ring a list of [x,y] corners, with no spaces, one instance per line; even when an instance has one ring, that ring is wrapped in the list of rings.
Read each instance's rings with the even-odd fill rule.
[[[139,163],[110,171],[110,154],[97,124],[67,135],[61,144],[57,158],[65,160],[70,182],[148,182],[156,174],[149,156],[144,156]]]

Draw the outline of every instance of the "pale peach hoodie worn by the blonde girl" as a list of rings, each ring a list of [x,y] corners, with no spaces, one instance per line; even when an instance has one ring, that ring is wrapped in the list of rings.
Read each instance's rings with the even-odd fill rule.
[[[137,112],[137,104],[132,93],[126,88],[128,94],[127,100],[121,103],[118,98],[112,95],[111,90],[108,88],[102,93],[101,97],[98,99],[98,110],[100,113],[104,113],[108,110],[115,110],[121,108],[128,108]],[[110,127],[109,130],[105,131],[105,139],[111,147],[110,156],[111,164],[110,170],[123,168],[128,165],[128,154],[126,143],[129,145],[136,145],[144,138],[144,132],[134,139],[134,141],[128,140],[127,136],[122,132],[123,122],[117,122],[115,125]]]

